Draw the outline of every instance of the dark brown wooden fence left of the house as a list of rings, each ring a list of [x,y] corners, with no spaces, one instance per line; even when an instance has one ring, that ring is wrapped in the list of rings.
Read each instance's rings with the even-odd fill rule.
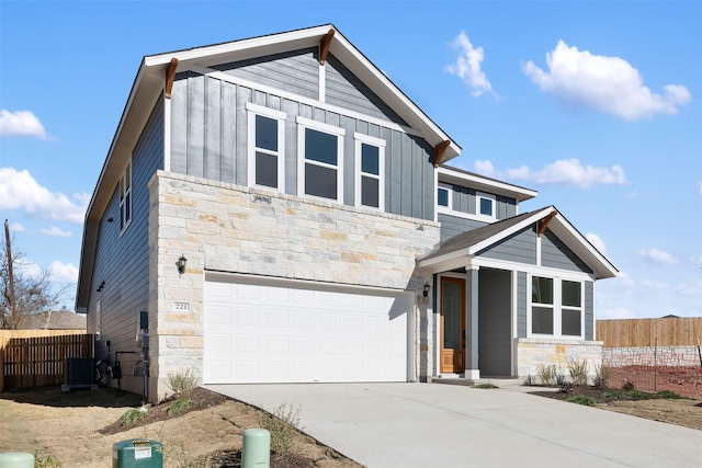
[[[61,332],[47,333],[48,336],[36,336],[38,333],[34,331],[0,332],[2,391],[61,384],[68,357],[94,357],[92,334],[57,333]]]

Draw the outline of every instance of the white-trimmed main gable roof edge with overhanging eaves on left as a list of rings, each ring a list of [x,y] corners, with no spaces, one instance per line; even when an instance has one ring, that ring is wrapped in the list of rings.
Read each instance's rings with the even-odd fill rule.
[[[319,46],[322,37],[330,31],[333,31],[333,35],[329,52],[341,64],[363,81],[411,128],[419,132],[432,147],[435,148],[442,142],[449,142],[443,153],[443,161],[461,153],[461,147],[356,49],[333,24],[146,56],[143,58],[132,84],[117,129],[86,212],[76,294],[77,311],[84,311],[88,307],[100,219],[110,203],[155,103],[163,95],[166,75],[171,60],[178,59],[177,71],[179,72],[190,68],[199,69],[215,64]]]

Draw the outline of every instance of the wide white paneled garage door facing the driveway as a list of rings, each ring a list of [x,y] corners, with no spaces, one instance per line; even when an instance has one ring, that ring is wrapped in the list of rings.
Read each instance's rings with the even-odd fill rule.
[[[407,381],[410,296],[205,282],[205,384]]]

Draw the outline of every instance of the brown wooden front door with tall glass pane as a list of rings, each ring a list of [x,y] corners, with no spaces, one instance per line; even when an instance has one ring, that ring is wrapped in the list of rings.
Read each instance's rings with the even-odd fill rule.
[[[441,278],[441,372],[465,370],[465,279]]]

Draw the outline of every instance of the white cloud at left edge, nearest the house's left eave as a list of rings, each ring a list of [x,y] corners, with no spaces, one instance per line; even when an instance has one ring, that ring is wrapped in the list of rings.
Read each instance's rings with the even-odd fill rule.
[[[73,194],[71,202],[60,192],[49,192],[29,171],[0,168],[0,209],[23,209],[46,219],[83,222],[90,195]]]

